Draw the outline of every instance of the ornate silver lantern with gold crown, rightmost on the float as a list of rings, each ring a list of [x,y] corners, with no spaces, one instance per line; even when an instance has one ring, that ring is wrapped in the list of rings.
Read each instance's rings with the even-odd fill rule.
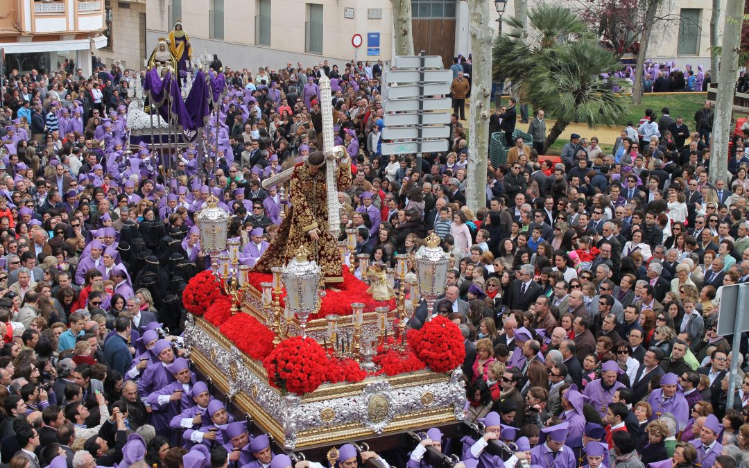
[[[413,261],[416,264],[419,292],[427,303],[426,320],[431,320],[434,301],[445,293],[447,271],[452,258],[440,248],[440,237],[431,233],[425,239],[425,245],[419,247],[416,255],[413,255]]]

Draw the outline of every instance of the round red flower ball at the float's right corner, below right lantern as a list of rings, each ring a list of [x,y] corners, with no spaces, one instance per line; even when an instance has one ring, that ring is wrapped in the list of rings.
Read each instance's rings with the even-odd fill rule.
[[[458,326],[442,316],[408,332],[411,349],[434,372],[450,372],[463,364],[466,357],[463,341]]]

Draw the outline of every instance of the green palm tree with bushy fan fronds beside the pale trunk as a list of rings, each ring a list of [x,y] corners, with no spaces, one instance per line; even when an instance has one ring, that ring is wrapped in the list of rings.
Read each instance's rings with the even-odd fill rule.
[[[597,127],[625,115],[627,103],[612,91],[623,80],[604,78],[621,66],[618,58],[571,10],[538,4],[528,14],[527,29],[513,18],[506,22],[512,30],[494,40],[494,79],[522,82],[527,102],[556,120],[545,149],[570,122]]]

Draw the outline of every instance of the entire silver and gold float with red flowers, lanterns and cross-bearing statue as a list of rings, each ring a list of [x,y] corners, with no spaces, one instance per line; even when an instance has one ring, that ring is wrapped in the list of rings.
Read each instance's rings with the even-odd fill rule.
[[[231,215],[209,200],[195,219],[212,268],[183,297],[198,371],[289,451],[455,425],[466,406],[464,338],[446,317],[432,318],[450,257],[432,234],[417,252],[397,255],[394,269],[369,265],[369,255],[354,269],[356,231],[339,242],[336,196],[351,184],[350,162],[333,146],[326,102],[325,159],[310,155],[264,180],[289,187],[270,246],[244,261],[239,238],[227,239]],[[409,329],[419,304],[426,321]]]

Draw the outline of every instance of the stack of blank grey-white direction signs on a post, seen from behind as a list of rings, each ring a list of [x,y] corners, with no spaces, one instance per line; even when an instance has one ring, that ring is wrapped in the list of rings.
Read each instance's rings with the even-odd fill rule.
[[[447,151],[452,101],[452,70],[443,70],[437,55],[398,55],[395,70],[384,73],[388,85],[383,109],[382,154],[416,154],[422,171],[422,154]]]

